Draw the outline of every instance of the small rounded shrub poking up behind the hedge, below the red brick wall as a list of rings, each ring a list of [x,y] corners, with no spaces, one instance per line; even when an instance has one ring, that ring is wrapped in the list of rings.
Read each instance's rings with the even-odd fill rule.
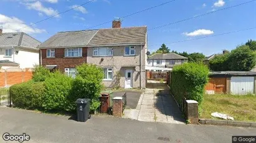
[[[36,66],[32,79],[35,82],[42,82],[49,76],[50,76],[49,69],[46,69],[45,67],[42,67],[42,66]]]

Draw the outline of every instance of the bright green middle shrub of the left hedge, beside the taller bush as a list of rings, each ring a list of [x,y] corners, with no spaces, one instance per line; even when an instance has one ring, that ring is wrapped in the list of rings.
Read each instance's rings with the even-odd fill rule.
[[[44,86],[44,102],[42,104],[46,111],[70,111],[75,105],[74,102],[67,100],[72,90],[73,79],[56,71],[50,74],[50,77],[45,79]]]

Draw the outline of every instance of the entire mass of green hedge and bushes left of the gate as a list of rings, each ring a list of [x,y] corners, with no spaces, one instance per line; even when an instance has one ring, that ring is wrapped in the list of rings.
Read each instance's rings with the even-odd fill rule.
[[[62,72],[36,67],[32,80],[12,85],[12,103],[18,108],[44,112],[75,112],[77,98],[90,98],[90,111],[100,106],[98,97],[103,89],[102,68],[93,64],[77,66],[75,78]]]

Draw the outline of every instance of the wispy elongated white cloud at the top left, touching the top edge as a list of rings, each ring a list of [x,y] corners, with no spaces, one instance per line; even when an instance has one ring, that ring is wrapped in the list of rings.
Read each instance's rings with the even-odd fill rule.
[[[52,9],[52,7],[44,7],[40,1],[32,2],[32,3],[27,2],[25,3],[25,5],[27,6],[28,9],[34,9],[48,16],[56,15],[59,13],[57,10]],[[60,17],[60,15],[56,15],[55,17]]]

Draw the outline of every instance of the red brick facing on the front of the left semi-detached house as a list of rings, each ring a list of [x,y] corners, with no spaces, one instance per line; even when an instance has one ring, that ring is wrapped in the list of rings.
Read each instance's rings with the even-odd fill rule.
[[[64,72],[67,67],[87,63],[87,48],[82,48],[82,57],[78,58],[65,57],[65,48],[55,48],[55,58],[47,58],[46,51],[46,49],[42,49],[42,66],[57,65],[56,68]]]

